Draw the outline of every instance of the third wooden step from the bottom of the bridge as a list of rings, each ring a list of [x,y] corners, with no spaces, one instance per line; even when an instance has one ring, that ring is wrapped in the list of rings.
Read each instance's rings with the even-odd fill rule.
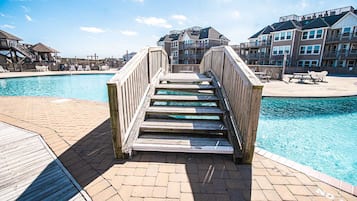
[[[146,110],[146,114],[160,115],[223,115],[224,111],[217,107],[166,107],[151,106]]]

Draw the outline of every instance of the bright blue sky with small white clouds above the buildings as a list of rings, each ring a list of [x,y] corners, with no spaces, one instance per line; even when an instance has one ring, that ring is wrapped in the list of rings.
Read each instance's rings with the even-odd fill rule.
[[[0,0],[0,29],[63,57],[121,57],[170,30],[212,26],[230,44],[280,16],[353,6],[355,0]]]

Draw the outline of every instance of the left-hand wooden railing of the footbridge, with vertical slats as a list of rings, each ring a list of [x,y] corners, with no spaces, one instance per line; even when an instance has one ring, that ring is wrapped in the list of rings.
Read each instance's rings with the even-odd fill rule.
[[[159,47],[137,53],[107,83],[113,148],[116,158],[124,157],[124,144],[144,102],[150,84],[168,71],[168,57]]]

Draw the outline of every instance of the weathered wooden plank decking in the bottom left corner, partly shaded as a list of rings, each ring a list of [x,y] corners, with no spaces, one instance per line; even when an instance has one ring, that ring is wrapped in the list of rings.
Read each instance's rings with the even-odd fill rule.
[[[41,137],[0,122],[0,200],[86,200]]]

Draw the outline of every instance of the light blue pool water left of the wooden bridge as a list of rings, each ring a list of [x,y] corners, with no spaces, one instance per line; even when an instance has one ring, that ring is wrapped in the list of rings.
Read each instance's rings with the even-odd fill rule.
[[[113,74],[56,75],[0,79],[0,96],[49,96],[108,102]]]

